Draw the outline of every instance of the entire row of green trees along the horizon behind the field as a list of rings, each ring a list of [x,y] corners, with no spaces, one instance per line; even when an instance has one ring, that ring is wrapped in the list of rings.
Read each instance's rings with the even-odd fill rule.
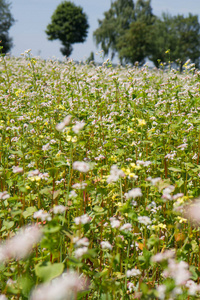
[[[7,0],[0,0],[0,40],[3,52],[12,47],[8,35],[14,18]],[[49,40],[60,40],[63,55],[70,56],[73,44],[82,43],[88,34],[88,18],[82,7],[70,1],[61,2],[47,25]],[[200,23],[197,15],[161,17],[153,14],[151,0],[115,0],[98,20],[93,32],[97,46],[113,59],[118,56],[121,64],[142,65],[146,59],[156,67],[160,62],[173,61],[182,69],[188,59],[200,67]],[[93,57],[93,56],[91,56]]]

